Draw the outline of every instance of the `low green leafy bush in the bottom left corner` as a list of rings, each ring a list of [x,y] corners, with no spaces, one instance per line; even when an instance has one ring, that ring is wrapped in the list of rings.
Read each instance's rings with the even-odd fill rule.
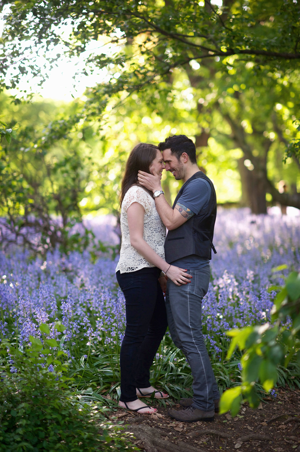
[[[30,339],[32,345],[23,352],[9,342],[1,344],[1,356],[9,350],[18,371],[0,365],[0,451],[137,450],[120,425],[106,420],[107,408],[82,403],[68,389],[66,365],[53,360],[39,339]],[[51,372],[52,363],[56,372]]]

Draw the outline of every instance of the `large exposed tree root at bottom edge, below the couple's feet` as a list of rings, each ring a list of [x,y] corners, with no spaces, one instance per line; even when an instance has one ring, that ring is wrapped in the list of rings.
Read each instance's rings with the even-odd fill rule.
[[[166,432],[160,432],[158,428],[149,425],[132,425],[127,431],[133,433],[135,438],[142,440],[147,452],[205,452],[203,449],[192,447],[187,443],[174,444],[167,439],[162,439]]]

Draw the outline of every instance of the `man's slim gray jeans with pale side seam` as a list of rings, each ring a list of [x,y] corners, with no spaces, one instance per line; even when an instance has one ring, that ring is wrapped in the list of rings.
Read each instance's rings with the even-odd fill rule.
[[[202,334],[202,298],[208,291],[210,267],[189,270],[191,282],[176,286],[170,279],[166,290],[166,312],[174,344],[185,353],[193,381],[193,406],[210,411],[220,397]]]

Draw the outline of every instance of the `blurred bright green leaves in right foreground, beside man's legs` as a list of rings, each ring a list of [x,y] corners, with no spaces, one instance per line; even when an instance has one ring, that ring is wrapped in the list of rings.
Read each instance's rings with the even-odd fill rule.
[[[275,268],[275,271],[279,269]],[[242,399],[257,408],[259,398],[255,383],[259,381],[264,391],[271,391],[280,381],[281,366],[286,369],[291,360],[300,365],[300,273],[290,273],[284,287],[270,287],[269,291],[278,289],[281,290],[271,311],[275,325],[271,327],[266,323],[227,332],[233,338],[227,358],[231,358],[238,347],[243,352],[240,361],[243,369],[241,384],[223,393],[220,413],[231,410],[235,416]],[[300,387],[297,379],[295,383]]]

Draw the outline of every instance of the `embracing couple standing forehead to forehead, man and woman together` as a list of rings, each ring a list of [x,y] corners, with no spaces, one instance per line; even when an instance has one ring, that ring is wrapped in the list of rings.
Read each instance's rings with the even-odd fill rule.
[[[162,170],[184,184],[170,207]],[[181,399],[174,419],[212,421],[219,391],[202,334],[202,298],[210,280],[209,259],[217,203],[213,184],[198,169],[196,148],[185,135],[159,146],[139,143],[122,179],[120,261],[116,278],[125,296],[126,329],[121,345],[119,405],[141,414],[156,409],[140,398],[166,399],[150,385],[150,367],[167,326],[191,367],[193,398]],[[166,235],[166,228],[168,234]],[[166,300],[163,293],[166,294]]]

